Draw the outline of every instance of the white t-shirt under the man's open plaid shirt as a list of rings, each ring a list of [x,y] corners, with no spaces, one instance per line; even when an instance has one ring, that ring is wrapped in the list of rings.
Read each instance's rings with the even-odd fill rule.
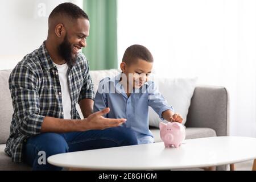
[[[55,63],[54,63],[55,64]],[[58,70],[64,119],[71,119],[71,98],[68,87],[68,64],[55,64]]]

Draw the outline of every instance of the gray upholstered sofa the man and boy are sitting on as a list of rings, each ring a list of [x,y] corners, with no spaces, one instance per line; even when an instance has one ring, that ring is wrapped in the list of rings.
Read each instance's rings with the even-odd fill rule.
[[[0,71],[0,170],[30,170],[26,164],[13,163],[4,152],[9,137],[13,106],[8,79],[10,70]],[[195,89],[185,123],[186,139],[228,135],[228,93],[219,86]],[[160,142],[159,129],[151,127],[155,142]],[[225,170],[226,166],[217,167]]]

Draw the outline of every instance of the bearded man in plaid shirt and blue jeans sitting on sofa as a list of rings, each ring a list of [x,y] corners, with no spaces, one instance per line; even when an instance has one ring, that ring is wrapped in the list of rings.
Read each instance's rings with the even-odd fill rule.
[[[93,84],[80,49],[89,36],[89,18],[62,3],[49,15],[47,40],[11,72],[14,114],[5,152],[34,170],[58,170],[40,157],[64,152],[137,144],[126,119],[108,119],[109,108],[93,113]],[[85,119],[76,110],[79,103]],[[92,114],[93,113],[93,114]],[[104,130],[103,130],[104,129]]]

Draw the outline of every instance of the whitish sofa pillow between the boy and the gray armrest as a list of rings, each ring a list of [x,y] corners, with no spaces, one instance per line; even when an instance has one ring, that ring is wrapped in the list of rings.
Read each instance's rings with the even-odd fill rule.
[[[197,78],[160,78],[154,75],[152,80],[158,85],[159,92],[168,104],[174,107],[175,113],[183,117],[182,123],[185,125]],[[160,121],[159,115],[150,107],[149,125],[159,127]]]

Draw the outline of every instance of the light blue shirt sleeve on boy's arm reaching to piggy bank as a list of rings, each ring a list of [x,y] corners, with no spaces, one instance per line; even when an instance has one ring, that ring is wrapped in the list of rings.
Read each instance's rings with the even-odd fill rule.
[[[174,112],[174,107],[168,105],[154,82],[148,86],[148,105],[152,107],[162,120],[164,120],[162,117],[164,111],[172,110]]]

